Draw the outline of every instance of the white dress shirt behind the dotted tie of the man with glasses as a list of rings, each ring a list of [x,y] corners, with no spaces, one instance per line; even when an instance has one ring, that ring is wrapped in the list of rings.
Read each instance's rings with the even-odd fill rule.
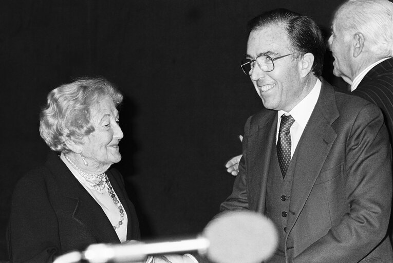
[[[284,110],[278,110],[277,116],[277,133],[276,133],[276,142],[278,141],[278,130],[281,123],[281,116],[291,115],[295,122],[292,124],[289,132],[291,133],[291,158],[293,153],[295,152],[296,146],[302,137],[304,128],[307,125],[308,120],[310,119],[311,113],[314,110],[316,101],[318,100],[321,92],[322,83],[320,80],[316,80],[316,83],[310,93],[299,102],[293,109],[289,112]]]

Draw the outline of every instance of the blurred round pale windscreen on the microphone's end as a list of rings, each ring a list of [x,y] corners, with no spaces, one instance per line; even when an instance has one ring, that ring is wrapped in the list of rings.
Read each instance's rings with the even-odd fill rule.
[[[278,244],[273,222],[251,211],[224,213],[205,227],[202,236],[210,241],[207,257],[216,263],[260,263]]]

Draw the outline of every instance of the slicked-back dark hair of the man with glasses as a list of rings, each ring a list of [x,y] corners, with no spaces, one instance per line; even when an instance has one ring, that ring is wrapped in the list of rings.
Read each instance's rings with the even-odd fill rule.
[[[274,9],[262,13],[248,22],[248,34],[254,30],[272,25],[283,24],[288,33],[289,41],[295,50],[294,53],[314,55],[312,71],[316,77],[322,74],[325,55],[325,41],[321,29],[312,18],[292,12],[287,9]]]

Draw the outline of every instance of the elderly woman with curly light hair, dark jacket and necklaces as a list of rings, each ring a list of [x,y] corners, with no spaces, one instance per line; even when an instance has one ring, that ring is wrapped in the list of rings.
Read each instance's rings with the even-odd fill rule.
[[[139,239],[120,173],[121,93],[104,79],[53,89],[41,112],[46,163],[16,185],[8,227],[12,262],[51,262],[91,243]]]

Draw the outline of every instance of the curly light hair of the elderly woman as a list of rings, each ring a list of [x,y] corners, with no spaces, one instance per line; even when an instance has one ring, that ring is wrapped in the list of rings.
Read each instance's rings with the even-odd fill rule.
[[[116,106],[123,100],[120,91],[103,78],[79,79],[49,92],[40,115],[40,135],[56,152],[68,152],[66,139],[80,140],[94,132],[91,107],[110,98]]]

